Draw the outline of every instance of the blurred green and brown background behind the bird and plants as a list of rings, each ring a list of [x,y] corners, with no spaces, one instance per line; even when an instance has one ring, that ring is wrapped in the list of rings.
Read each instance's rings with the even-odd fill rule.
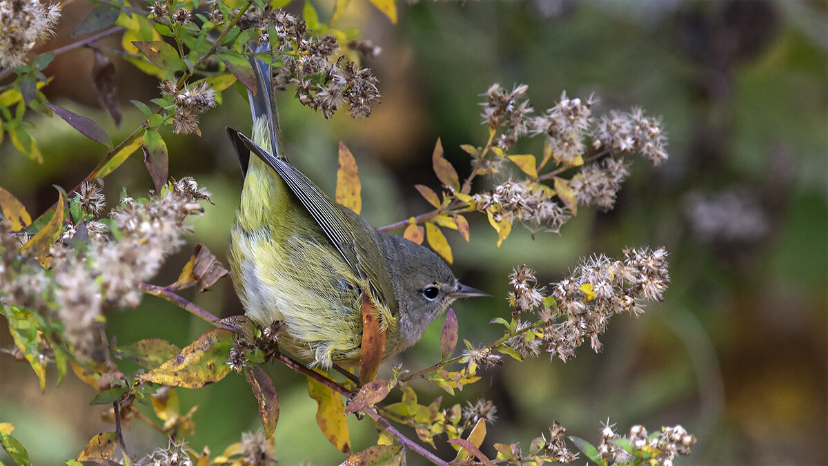
[[[331,2],[313,3],[324,21]],[[374,225],[428,210],[412,185],[438,187],[430,163],[436,138],[461,176],[468,173],[459,145],[485,143],[478,103],[494,82],[529,85],[537,111],[562,90],[595,93],[601,100],[595,114],[641,106],[663,116],[669,136],[667,163],[653,168],[636,160],[614,211],[583,209],[561,235],[533,240],[518,228],[498,249],[479,215],[469,218],[469,244],[447,233],[455,273],[493,294],[454,306],[460,337],[474,343],[498,336],[488,322],[508,315],[508,274],[522,263],[546,284],[564,277],[580,256],[619,256],[624,247],[644,245],[671,253],[673,284],[664,303],[649,305],[638,319],[615,318],[603,352],[582,347],[566,364],[546,356],[508,360],[457,397],[444,397],[444,406],[479,397],[498,406],[485,452],[493,454],[493,442],[527,448],[553,420],[597,442],[600,422],[609,417],[621,433],[634,424],[684,425],[698,443],[683,464],[828,463],[826,2],[401,2],[397,26],[367,1],[352,3],[343,22],[383,48],[363,62],[378,75],[383,103],[367,120],[345,114],[325,120],[299,106],[289,89],[281,99],[282,130],[288,156],[327,192],[335,185],[337,143],[348,144],[363,180],[363,215]],[[67,2],[46,47],[68,41],[89,7]],[[289,9],[299,12],[301,4]],[[120,140],[141,121],[128,100],[156,97],[157,83],[116,61],[124,112],[116,129],[89,85],[91,60],[88,50],[59,56],[47,72],[55,80],[46,93]],[[246,131],[249,125],[243,96],[229,90],[224,100],[202,116],[200,138],[164,134],[171,176],[194,176],[215,206],[205,206],[190,246],[154,283],[171,283],[196,243],[224,260],[241,187],[224,126]],[[55,201],[52,184],[75,186],[104,149],[60,119],[32,122],[45,162],[32,163],[2,143],[0,186],[39,213]],[[513,153],[539,153],[541,146],[540,138],[527,138]],[[133,195],[152,187],[139,156],[107,178],[104,192],[117,199],[122,186]],[[242,313],[229,279],[187,296],[214,314]],[[11,347],[2,325],[0,343]],[[119,343],[161,337],[184,346],[207,328],[152,297],[108,316],[108,334]],[[439,333],[438,322],[402,362],[414,370],[435,362]],[[26,365],[2,354],[0,367],[0,420],[17,426],[33,464],[74,458],[94,434],[113,429],[99,420],[100,407],[88,405],[94,391],[74,376],[55,388],[51,374],[41,394]],[[341,462],[344,455],[315,425],[304,378],[283,366],[267,371],[282,401],[280,463]],[[446,395],[428,384],[415,388],[422,400]],[[189,439],[196,449],[209,445],[218,453],[240,431],[258,429],[256,403],[240,376],[179,395],[182,411],[200,406]],[[372,425],[349,420],[354,449],[372,444]],[[166,445],[137,420],[126,435],[133,454]],[[409,455],[409,464],[419,460]]]

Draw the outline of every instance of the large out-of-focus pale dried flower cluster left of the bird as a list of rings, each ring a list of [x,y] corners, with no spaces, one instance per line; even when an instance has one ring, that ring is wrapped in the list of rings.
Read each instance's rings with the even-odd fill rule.
[[[181,235],[189,231],[185,217],[200,213],[197,200],[207,196],[192,178],[184,178],[155,200],[124,199],[110,215],[115,231],[91,216],[68,226],[51,247],[49,270],[26,260],[7,228],[0,228],[3,303],[53,311],[75,354],[99,359],[103,313],[140,303],[135,282],[152,278],[181,246]],[[88,212],[103,208],[103,195],[94,185],[84,184],[76,198]]]

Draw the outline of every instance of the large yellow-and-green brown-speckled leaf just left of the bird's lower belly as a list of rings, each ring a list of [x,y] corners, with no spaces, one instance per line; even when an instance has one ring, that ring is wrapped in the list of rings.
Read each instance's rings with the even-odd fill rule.
[[[201,388],[220,381],[230,371],[225,362],[235,338],[235,333],[229,330],[214,328],[190,343],[176,357],[137,376],[136,380],[184,388]]]

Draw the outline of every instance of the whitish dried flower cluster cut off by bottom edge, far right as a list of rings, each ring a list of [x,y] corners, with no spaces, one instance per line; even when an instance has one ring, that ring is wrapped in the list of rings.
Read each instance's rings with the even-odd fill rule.
[[[601,430],[601,443],[597,447],[601,458],[608,464],[629,463],[636,457],[644,456],[650,459],[651,464],[672,466],[676,455],[690,454],[690,447],[696,444],[696,436],[688,433],[681,425],[662,427],[662,432],[658,435],[647,435],[647,429],[643,425],[633,425],[627,437],[632,451],[628,451],[617,441],[620,438],[615,433],[614,426],[607,421]]]

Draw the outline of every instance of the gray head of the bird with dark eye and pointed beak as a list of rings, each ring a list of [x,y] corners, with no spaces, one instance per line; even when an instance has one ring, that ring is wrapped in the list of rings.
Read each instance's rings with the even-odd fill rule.
[[[399,308],[397,326],[402,341],[398,350],[416,343],[431,321],[455,299],[489,296],[461,284],[440,256],[425,246],[381,232],[378,240]]]

